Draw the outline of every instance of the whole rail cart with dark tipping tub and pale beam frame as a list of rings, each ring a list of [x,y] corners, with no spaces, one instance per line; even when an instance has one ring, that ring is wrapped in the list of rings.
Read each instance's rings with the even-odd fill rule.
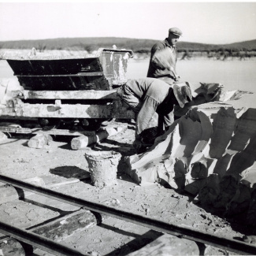
[[[79,123],[85,130],[112,118],[132,119],[116,94],[132,57],[132,50],[100,48],[86,56],[6,58],[24,90],[12,91],[0,119],[37,120],[44,129]]]

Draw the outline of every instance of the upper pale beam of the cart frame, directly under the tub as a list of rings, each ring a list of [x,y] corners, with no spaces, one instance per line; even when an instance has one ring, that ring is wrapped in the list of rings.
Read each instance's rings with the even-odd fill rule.
[[[29,91],[18,90],[12,91],[13,98],[39,98],[39,99],[99,99],[118,98],[116,90],[111,91]]]

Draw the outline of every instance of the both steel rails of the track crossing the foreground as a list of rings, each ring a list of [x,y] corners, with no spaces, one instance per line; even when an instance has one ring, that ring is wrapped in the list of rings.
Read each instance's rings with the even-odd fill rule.
[[[128,221],[129,223],[138,224],[158,232],[163,232],[198,243],[218,247],[222,250],[235,252],[236,254],[256,254],[256,247],[254,245],[250,243],[244,243],[236,239],[227,239],[207,232],[198,232],[193,228],[185,228],[175,224],[169,224],[154,218],[119,210],[112,206],[90,202],[81,198],[73,197],[71,195],[59,193],[58,191],[53,191],[44,187],[28,184],[24,181],[15,180],[9,176],[0,175],[0,181],[2,183],[12,185],[13,187],[20,188],[24,191],[32,191],[35,194],[53,198],[55,200],[71,204],[72,206],[82,207],[83,209],[90,210],[92,213],[99,213],[102,214],[102,216],[114,217],[120,219],[121,221]],[[45,250],[51,254],[90,255],[79,250],[74,250],[72,247],[67,247],[61,243],[54,242],[53,240],[47,239],[46,237],[39,236],[28,230],[17,228],[6,223],[0,222],[0,232],[21,242],[28,243],[33,247]]]

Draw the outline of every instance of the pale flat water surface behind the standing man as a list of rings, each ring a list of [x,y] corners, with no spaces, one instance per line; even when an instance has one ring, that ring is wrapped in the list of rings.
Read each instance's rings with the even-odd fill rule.
[[[149,59],[128,63],[128,78],[147,76]],[[214,61],[208,59],[177,61],[180,81],[222,83],[226,90],[256,92],[256,61]]]

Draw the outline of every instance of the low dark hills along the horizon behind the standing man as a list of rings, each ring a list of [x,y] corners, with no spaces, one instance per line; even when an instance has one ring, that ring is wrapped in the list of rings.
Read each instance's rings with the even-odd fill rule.
[[[148,53],[158,40],[130,39],[117,37],[87,37],[87,38],[58,38],[40,40],[20,40],[0,42],[2,49],[32,49],[37,50],[98,50],[98,48],[128,49],[134,52]],[[231,44],[206,44],[206,43],[177,43],[179,51],[209,51],[209,50],[256,50],[256,39]]]

